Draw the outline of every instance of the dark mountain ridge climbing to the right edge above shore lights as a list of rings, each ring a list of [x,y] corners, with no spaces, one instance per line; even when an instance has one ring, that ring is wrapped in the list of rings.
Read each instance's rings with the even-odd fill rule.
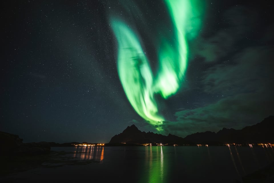
[[[241,130],[223,128],[217,133],[211,131],[194,133],[186,136],[184,139],[208,145],[221,145],[223,143],[274,143],[273,129],[274,116],[269,116],[260,123],[244,127]]]

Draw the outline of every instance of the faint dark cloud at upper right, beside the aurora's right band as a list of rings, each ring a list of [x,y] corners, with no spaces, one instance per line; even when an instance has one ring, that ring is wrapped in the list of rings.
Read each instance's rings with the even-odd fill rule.
[[[214,24],[217,22],[214,20],[216,15],[209,17],[209,24],[213,27],[205,33],[209,36],[201,36],[197,42],[192,43],[194,54],[202,56],[209,63],[218,62],[237,50],[239,41],[249,39],[249,34],[260,26],[257,11],[248,7],[232,7],[221,14],[222,25]]]

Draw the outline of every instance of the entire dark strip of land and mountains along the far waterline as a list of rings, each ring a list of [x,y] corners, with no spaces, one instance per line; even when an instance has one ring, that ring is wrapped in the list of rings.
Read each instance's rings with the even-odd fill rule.
[[[135,125],[128,126],[122,133],[114,135],[109,143],[105,146],[132,146],[132,145],[224,145],[227,143],[237,144],[257,144],[257,143],[274,143],[274,116],[265,118],[260,123],[244,127],[241,130],[226,129],[217,133],[206,131],[194,133],[185,138],[169,134],[168,136],[153,133],[142,132]],[[79,144],[93,144],[87,142],[31,142],[23,143],[18,135],[0,131],[0,143],[3,147],[0,149],[2,154],[25,154],[38,155],[49,154],[51,147],[69,147]],[[101,144],[100,144],[101,145]]]

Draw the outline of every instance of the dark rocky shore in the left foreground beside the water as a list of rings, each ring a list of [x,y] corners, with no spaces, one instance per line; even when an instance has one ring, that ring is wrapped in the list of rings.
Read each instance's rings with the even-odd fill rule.
[[[0,131],[0,176],[41,165],[51,152],[47,142],[23,143],[18,135]]]

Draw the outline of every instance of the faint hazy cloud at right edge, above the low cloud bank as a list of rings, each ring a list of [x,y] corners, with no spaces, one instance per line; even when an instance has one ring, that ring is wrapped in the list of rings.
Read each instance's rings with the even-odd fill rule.
[[[269,92],[273,89],[271,79],[274,74],[271,47],[246,48],[232,58],[230,63],[209,68],[202,80],[204,92],[225,96],[237,93]]]

